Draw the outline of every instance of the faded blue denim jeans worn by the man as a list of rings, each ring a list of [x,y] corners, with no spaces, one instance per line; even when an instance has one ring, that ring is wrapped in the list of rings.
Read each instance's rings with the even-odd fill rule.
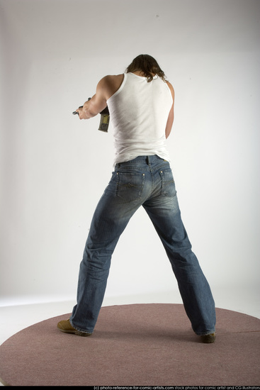
[[[181,221],[169,162],[157,155],[115,165],[91,222],[79,269],[77,305],[70,323],[81,332],[94,331],[115,245],[140,206],[147,211],[162,240],[194,332],[215,332],[215,303],[210,286]]]

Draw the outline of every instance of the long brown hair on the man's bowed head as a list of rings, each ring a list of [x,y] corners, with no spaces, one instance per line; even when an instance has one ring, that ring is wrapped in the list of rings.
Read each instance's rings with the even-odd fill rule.
[[[140,54],[132,60],[130,65],[126,68],[126,73],[134,73],[140,70],[147,77],[147,82],[152,82],[154,74],[157,74],[165,81],[165,74],[159,67],[157,60],[148,54]]]

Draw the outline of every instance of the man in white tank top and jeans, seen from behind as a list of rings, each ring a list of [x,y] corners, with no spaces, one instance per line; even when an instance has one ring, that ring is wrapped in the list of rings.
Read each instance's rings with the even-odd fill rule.
[[[91,222],[77,305],[58,328],[81,336],[93,333],[113,250],[132,215],[143,206],[169,257],[194,332],[203,342],[214,342],[215,303],[181,221],[166,150],[174,121],[174,88],[153,57],[139,55],[125,74],[103,77],[96,94],[77,113],[80,119],[89,119],[106,106],[114,128],[115,171]]]

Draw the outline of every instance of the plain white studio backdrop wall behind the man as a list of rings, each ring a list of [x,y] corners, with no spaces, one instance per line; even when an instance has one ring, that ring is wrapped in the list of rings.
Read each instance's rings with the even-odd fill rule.
[[[183,222],[214,289],[259,282],[259,0],[0,0],[1,304],[75,299],[113,135],[72,111],[155,57],[176,91],[168,147]],[[177,290],[145,212],[107,296]]]

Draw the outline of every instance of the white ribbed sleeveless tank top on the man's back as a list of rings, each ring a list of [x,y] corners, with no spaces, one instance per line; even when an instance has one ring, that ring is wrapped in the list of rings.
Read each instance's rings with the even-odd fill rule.
[[[158,155],[169,160],[165,128],[173,99],[160,77],[125,73],[118,91],[107,101],[115,140],[115,164],[137,156]]]

